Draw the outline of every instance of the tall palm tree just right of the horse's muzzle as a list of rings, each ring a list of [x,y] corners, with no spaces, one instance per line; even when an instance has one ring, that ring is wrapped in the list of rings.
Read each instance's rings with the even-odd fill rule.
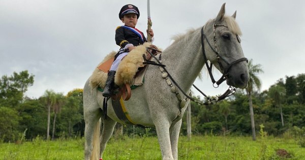
[[[261,69],[261,65],[253,65],[253,59],[251,59],[248,62],[248,68],[249,68],[249,82],[248,87],[246,88],[246,92],[249,97],[249,108],[250,108],[250,116],[251,116],[251,128],[252,128],[252,140],[256,140],[255,135],[255,123],[254,123],[254,112],[253,112],[253,105],[252,105],[252,97],[251,94],[254,91],[254,89],[260,90],[261,87],[261,81],[257,77],[257,74],[263,73],[263,70]]]

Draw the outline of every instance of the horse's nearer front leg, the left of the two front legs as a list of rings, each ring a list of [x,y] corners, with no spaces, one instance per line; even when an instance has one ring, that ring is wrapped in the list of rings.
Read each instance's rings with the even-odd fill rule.
[[[170,122],[165,118],[165,116],[158,116],[154,120],[158,141],[162,153],[162,159],[163,160],[172,160],[173,155],[171,151],[171,144],[170,144],[170,134],[169,134],[169,127]]]

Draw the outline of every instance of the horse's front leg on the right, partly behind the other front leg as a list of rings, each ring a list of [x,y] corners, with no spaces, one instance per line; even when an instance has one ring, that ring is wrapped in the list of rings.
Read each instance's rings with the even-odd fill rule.
[[[181,123],[182,123],[182,119],[173,122],[169,128],[170,144],[174,159],[178,159],[178,139],[179,139]]]

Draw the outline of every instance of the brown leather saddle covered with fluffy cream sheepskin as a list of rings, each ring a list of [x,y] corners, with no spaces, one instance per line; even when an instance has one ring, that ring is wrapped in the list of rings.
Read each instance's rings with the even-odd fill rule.
[[[147,49],[146,46],[148,47]],[[155,45],[146,43],[137,46],[134,50],[125,56],[118,66],[114,80],[116,88],[111,97],[113,100],[119,100],[122,97],[123,100],[128,101],[131,98],[131,89],[143,84],[143,77],[147,67],[146,61],[151,59],[150,53],[157,55],[160,52]],[[113,60],[114,57],[109,58],[102,62],[97,69],[107,73]]]

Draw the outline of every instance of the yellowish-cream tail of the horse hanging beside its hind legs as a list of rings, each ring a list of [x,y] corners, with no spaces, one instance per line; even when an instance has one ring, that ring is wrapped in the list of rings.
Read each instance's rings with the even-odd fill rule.
[[[101,135],[101,118],[97,122],[94,134],[93,134],[93,141],[92,141],[92,152],[90,156],[90,160],[97,160],[100,159],[100,135]]]

